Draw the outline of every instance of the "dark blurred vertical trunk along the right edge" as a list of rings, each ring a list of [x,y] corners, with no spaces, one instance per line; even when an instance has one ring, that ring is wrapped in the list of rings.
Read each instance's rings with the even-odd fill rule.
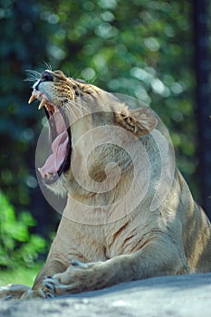
[[[209,0],[194,0],[194,24],[197,73],[197,122],[199,177],[202,206],[211,219],[211,62],[208,37]]]

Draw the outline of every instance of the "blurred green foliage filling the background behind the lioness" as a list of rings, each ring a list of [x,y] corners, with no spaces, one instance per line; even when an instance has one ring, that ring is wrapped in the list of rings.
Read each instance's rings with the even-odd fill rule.
[[[44,62],[150,104],[167,125],[177,166],[200,201],[192,15],[188,0],[0,0],[0,185],[18,214],[5,205],[14,219],[9,224],[18,224],[4,224],[5,262],[16,243],[29,240],[31,251],[36,245],[27,231],[33,220],[20,213],[23,208],[35,216],[41,235],[57,222],[34,172],[43,113],[26,105],[31,83],[24,82],[24,71],[42,72]],[[29,255],[27,245],[19,251]]]

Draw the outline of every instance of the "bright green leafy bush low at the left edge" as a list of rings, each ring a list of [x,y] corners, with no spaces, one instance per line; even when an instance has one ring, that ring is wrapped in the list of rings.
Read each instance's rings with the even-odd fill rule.
[[[5,195],[0,192],[0,268],[31,267],[46,243],[39,235],[30,234],[34,217],[27,211],[14,214]]]

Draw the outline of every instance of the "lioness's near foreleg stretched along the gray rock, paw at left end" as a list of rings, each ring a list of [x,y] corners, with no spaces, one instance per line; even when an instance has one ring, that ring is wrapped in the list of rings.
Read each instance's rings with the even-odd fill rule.
[[[116,283],[151,276],[188,272],[186,256],[173,242],[157,241],[131,255],[116,256],[106,262],[73,262],[62,274],[48,276],[43,285],[60,295],[101,289]]]

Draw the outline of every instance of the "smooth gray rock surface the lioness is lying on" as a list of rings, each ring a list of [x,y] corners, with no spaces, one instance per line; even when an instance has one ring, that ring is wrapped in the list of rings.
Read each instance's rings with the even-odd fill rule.
[[[49,300],[0,301],[4,317],[210,317],[211,273],[161,276]]]

